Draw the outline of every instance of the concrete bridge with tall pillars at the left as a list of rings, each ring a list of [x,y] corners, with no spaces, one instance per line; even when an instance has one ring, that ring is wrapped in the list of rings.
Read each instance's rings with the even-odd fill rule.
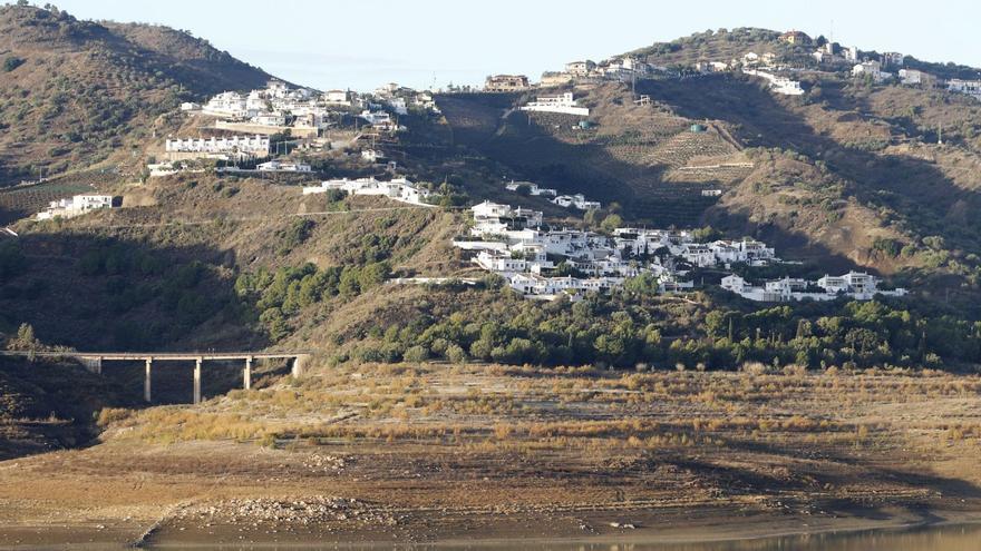
[[[153,401],[152,376],[154,362],[194,362],[194,403],[201,403],[201,365],[207,361],[244,362],[242,371],[243,387],[252,387],[252,363],[256,360],[292,361],[292,374],[303,374],[303,364],[310,357],[309,352],[31,352],[0,351],[3,356],[29,357],[71,357],[78,360],[88,371],[101,374],[103,362],[145,362],[146,374],[143,381],[143,397]]]

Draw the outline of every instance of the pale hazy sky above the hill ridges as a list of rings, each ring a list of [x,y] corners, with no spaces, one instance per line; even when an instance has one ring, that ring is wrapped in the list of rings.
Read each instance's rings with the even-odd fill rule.
[[[978,0],[60,0],[85,19],[162,23],[297,83],[417,88],[537,78],[706,29],[764,27],[981,66]]]

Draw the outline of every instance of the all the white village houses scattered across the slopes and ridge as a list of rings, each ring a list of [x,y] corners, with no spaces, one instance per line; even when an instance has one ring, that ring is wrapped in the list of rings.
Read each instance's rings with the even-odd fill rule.
[[[799,31],[789,31],[780,40],[795,45],[814,41]],[[866,56],[857,48],[838,43],[822,43],[814,51],[819,68],[851,65],[855,78],[868,78],[876,83],[897,82],[911,86],[945,86],[951,91],[981,99],[981,81],[940,79],[922,71],[903,68],[904,56],[895,52]],[[747,51],[738,59],[706,60],[691,68],[696,75],[738,71],[761,79],[777,95],[802,96],[805,89],[791,77],[802,69],[786,67],[771,52]],[[894,69],[896,72],[888,72]],[[590,81],[632,82],[638,79],[684,78],[677,69],[642,62],[632,57],[600,62],[591,60],[566,63],[564,70],[545,72],[540,82],[531,82],[523,75],[487,77],[483,90],[451,91],[523,92],[538,88],[554,89]],[[434,94],[443,90],[417,91],[389,83],[371,94],[351,90],[320,92],[271,80],[266,88],[249,92],[225,91],[203,105],[183,104],[186,117],[203,117],[220,136],[168,136],[164,139],[165,160],[147,165],[148,177],[165,177],[179,173],[295,174],[312,176],[311,165],[289,158],[290,149],[273,137],[302,142],[305,148],[347,149],[350,155],[368,165],[385,163],[388,179],[375,176],[333,178],[317,185],[302,186],[302,195],[339,193],[351,196],[375,196],[414,207],[431,208],[439,194],[429,183],[414,183],[397,171],[397,164],[388,160],[378,147],[363,147],[358,140],[365,135],[394,135],[406,130],[399,117],[410,110],[439,114]],[[641,98],[643,101],[645,97]],[[544,94],[534,97],[518,109],[525,112],[560,114],[581,117],[576,128],[591,128],[590,108],[581,105],[573,91]],[[352,120],[354,134],[348,141],[337,141],[337,130],[346,119]],[[332,135],[333,131],[333,135]],[[241,132],[227,136],[227,132]],[[201,163],[205,161],[205,163]],[[223,166],[215,166],[220,161]],[[250,168],[242,168],[242,165]],[[571,210],[587,213],[603,208],[599,200],[584,194],[562,194],[555,188],[532,181],[511,180],[504,185],[518,196],[536,197]],[[702,190],[702,196],[717,197],[719,189]],[[78,195],[54,201],[37,219],[68,218],[111,208],[111,196]],[[721,277],[720,287],[755,302],[833,301],[849,297],[871,299],[876,294],[904,296],[903,288],[883,289],[882,282],[870,274],[849,272],[825,275],[817,281],[784,277],[767,282],[750,282],[736,273],[740,266],[758,267],[780,264],[773,247],[754,239],[715,240],[698,243],[691,230],[620,227],[610,234],[576,228],[554,228],[544,222],[544,214],[524,207],[484,200],[470,208],[473,226],[468,235],[458,236],[453,246],[466,253],[469,262],[479,268],[499,275],[507,285],[527,298],[552,301],[559,297],[582,299],[589,292],[605,292],[624,285],[628,278],[648,277],[660,293],[691,291],[695,269],[729,270]],[[433,283],[453,278],[400,278],[399,282]],[[467,281],[473,284],[473,281]]]

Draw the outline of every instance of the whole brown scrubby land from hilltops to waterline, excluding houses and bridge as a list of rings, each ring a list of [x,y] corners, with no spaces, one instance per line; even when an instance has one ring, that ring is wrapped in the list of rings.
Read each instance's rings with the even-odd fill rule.
[[[0,190],[0,346],[14,351],[0,354],[0,545],[629,548],[779,532],[806,547],[818,532],[977,522],[981,104],[810,69],[790,98],[686,68],[750,49],[807,57],[777,37],[638,50],[677,70],[562,90],[587,125],[517,109],[537,92],[440,94],[438,110],[400,116],[404,130],[343,128],[362,139],[288,154],[311,171],[137,178],[163,134],[204,120],[179,101],[268,75],[163,27],[0,9],[0,185],[57,173]],[[397,167],[363,159],[368,144]],[[301,189],[369,175],[443,197]],[[27,217],[93,189],[122,205]],[[453,245],[485,199],[589,240],[673,226],[756,237],[793,262],[666,257],[692,289],[642,273],[532,299]],[[575,255],[601,248],[544,256],[566,257],[554,272],[571,282]],[[623,258],[653,270],[650,253]],[[719,286],[848,269],[911,293],[754,302]],[[71,348],[187,355],[95,374]],[[64,356],[38,354],[51,350]],[[208,357],[192,374],[194,356],[233,350],[307,362]]]

